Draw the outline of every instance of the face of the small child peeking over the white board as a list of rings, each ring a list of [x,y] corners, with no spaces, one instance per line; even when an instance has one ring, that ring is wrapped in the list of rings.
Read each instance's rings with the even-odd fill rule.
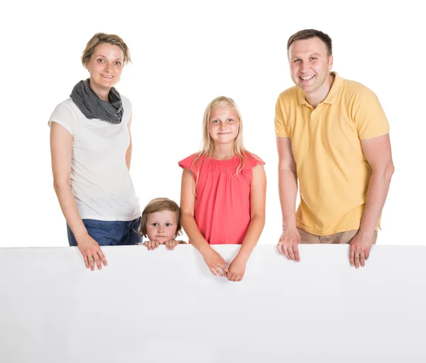
[[[160,244],[175,238],[178,228],[176,212],[162,210],[150,213],[146,218],[146,234],[150,241],[158,241]]]

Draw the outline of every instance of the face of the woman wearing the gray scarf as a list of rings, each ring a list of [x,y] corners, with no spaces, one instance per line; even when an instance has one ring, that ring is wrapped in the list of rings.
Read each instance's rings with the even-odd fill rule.
[[[117,45],[100,43],[92,53],[86,68],[90,72],[90,87],[94,92],[111,90],[119,82],[123,70],[124,54]]]

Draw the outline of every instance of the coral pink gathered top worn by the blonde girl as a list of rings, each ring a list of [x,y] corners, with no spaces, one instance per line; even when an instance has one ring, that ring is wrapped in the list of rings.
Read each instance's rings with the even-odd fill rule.
[[[244,168],[236,174],[238,156],[229,160],[202,156],[192,163],[196,157],[188,156],[179,166],[192,170],[197,183],[194,217],[198,229],[209,244],[243,243],[250,224],[252,169],[265,163],[246,153]]]

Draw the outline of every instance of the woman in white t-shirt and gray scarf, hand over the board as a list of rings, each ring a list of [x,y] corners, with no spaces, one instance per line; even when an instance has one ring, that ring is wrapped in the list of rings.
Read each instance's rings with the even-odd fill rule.
[[[129,48],[116,35],[97,33],[82,63],[89,79],[50,117],[53,180],[67,220],[68,242],[86,268],[102,269],[99,246],[136,244],[140,207],[131,181],[131,103],[116,91]]]

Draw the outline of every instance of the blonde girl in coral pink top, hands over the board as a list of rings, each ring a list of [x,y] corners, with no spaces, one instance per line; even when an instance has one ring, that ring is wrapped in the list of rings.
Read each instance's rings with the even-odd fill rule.
[[[179,162],[182,227],[210,271],[229,281],[244,277],[265,224],[265,163],[244,149],[242,131],[235,102],[217,97],[204,112],[202,151]],[[211,244],[242,246],[227,267]]]

